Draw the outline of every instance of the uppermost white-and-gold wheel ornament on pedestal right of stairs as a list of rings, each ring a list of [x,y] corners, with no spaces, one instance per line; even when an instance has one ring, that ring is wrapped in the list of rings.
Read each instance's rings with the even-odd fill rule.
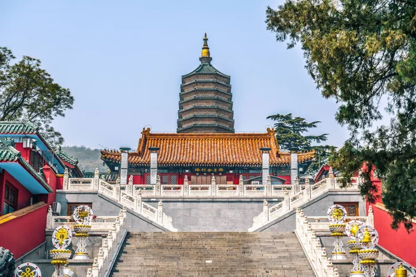
[[[344,220],[347,217],[347,211],[344,206],[332,205],[328,208],[327,217],[329,220],[329,231],[333,236],[332,260],[346,260],[347,255],[343,249],[343,236],[345,231]]]

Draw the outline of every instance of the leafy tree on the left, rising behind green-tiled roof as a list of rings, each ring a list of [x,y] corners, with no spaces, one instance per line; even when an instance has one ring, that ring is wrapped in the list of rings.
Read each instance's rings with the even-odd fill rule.
[[[40,67],[40,60],[23,56],[12,64],[14,59],[8,48],[0,48],[0,120],[29,121],[56,148],[64,139],[51,123],[72,109],[73,96]]]

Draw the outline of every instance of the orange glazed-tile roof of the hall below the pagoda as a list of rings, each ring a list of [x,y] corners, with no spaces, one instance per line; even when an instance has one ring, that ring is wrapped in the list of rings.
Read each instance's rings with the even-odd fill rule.
[[[150,133],[144,129],[136,152],[130,152],[130,166],[150,166],[150,147],[159,148],[157,163],[165,166],[228,166],[261,168],[260,148],[270,148],[270,166],[287,167],[291,163],[290,153],[279,152],[275,132],[267,133]],[[297,155],[298,163],[309,163],[315,152],[302,152]],[[101,159],[105,163],[120,163],[121,152],[102,150]]]

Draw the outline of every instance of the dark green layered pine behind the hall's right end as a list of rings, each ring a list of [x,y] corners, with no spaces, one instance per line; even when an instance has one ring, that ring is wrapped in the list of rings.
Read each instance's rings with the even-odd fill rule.
[[[292,114],[275,114],[268,116],[267,119],[275,120],[275,132],[276,139],[279,143],[279,147],[283,150],[290,151],[302,151],[302,150],[315,150],[316,156],[309,166],[309,174],[317,172],[324,164],[331,150],[334,149],[331,145],[313,145],[313,143],[321,143],[327,141],[328,134],[320,134],[318,136],[305,136],[305,132],[309,132],[310,129],[316,128],[320,121],[307,122],[305,118],[295,117]]]

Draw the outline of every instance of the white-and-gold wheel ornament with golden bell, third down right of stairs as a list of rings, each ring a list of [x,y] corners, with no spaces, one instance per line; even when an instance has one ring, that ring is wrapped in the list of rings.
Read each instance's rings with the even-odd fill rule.
[[[356,240],[360,242],[361,250],[358,251],[358,257],[361,259],[361,265],[364,267],[366,277],[376,276],[375,265],[376,258],[379,256],[379,250],[374,249],[379,242],[379,233],[370,225],[361,226],[356,232]]]

